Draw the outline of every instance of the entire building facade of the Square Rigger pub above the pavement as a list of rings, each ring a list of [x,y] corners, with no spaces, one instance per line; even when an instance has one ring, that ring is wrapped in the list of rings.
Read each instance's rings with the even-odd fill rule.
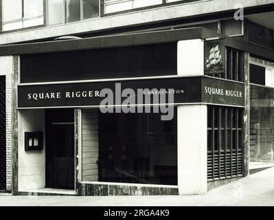
[[[0,5],[0,192],[201,195],[274,166],[274,1]]]

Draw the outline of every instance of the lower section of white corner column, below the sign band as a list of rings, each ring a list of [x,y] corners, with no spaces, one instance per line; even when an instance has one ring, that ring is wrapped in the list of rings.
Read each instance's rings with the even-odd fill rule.
[[[179,195],[207,192],[207,105],[181,105],[178,113]]]

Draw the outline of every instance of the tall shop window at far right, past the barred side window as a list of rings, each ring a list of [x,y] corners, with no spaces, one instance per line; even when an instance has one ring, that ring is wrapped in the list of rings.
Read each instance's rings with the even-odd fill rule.
[[[250,169],[274,166],[274,65],[251,57]]]

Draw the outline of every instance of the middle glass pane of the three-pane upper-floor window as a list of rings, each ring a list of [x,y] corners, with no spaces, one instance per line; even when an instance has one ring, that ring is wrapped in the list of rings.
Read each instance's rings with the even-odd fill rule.
[[[80,21],[80,0],[67,0],[67,23]]]

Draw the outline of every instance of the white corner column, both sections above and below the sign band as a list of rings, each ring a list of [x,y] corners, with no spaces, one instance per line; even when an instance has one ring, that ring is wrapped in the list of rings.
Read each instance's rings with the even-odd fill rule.
[[[179,41],[177,49],[178,75],[203,76],[203,40]],[[207,105],[180,105],[177,114],[179,195],[201,195],[207,192]]]

